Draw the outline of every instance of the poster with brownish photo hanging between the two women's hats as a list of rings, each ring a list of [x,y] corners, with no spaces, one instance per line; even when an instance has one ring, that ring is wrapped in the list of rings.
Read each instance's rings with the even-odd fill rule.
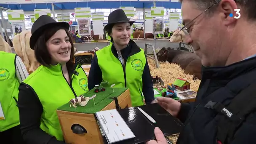
[[[90,19],[78,19],[77,24],[79,35],[91,35]]]

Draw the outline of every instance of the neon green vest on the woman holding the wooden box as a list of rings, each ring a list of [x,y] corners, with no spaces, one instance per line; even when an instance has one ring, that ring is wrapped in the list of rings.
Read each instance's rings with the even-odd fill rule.
[[[78,65],[75,71],[78,75],[72,75],[71,86],[62,74],[61,64],[40,66],[23,81],[34,89],[43,106],[40,128],[60,141],[63,141],[63,134],[56,109],[67,104],[75,95],[80,96],[89,91],[82,67]]]

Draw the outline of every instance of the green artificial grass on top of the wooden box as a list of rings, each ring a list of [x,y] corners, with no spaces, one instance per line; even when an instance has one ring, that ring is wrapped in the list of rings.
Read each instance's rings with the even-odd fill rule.
[[[101,111],[104,107],[106,107],[108,104],[110,104],[113,99],[109,99],[112,97],[118,97],[122,93],[124,93],[128,88],[114,88],[114,93],[112,88],[105,87],[105,91],[100,91],[98,93],[94,92],[94,89],[91,91],[88,91],[87,93],[84,93],[84,97],[91,97],[94,94],[96,94],[96,97],[94,97],[95,106],[93,103],[93,99],[90,99],[88,104],[84,107],[77,106],[75,107],[69,107],[69,102],[67,104],[64,104],[63,106],[59,107],[58,110],[62,111],[68,111],[68,112],[78,112],[78,113],[87,113],[87,114],[93,114],[95,112]]]

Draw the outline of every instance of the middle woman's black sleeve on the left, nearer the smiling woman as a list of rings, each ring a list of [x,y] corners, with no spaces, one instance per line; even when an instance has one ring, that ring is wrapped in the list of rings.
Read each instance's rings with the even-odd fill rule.
[[[88,76],[88,89],[91,90],[95,85],[99,85],[102,82],[102,72],[98,64],[98,58],[96,53],[93,56],[91,68]]]

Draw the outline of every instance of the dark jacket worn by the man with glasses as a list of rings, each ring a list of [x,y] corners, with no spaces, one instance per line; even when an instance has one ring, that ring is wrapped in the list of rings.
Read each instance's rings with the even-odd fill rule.
[[[220,117],[216,116],[218,113],[214,109],[207,109],[204,106],[210,100],[227,106],[240,91],[255,83],[256,57],[226,67],[203,67],[202,72],[195,102],[181,104],[178,117],[185,126],[177,144],[217,144],[217,123]],[[255,135],[254,111],[237,129],[230,144],[256,144]]]

